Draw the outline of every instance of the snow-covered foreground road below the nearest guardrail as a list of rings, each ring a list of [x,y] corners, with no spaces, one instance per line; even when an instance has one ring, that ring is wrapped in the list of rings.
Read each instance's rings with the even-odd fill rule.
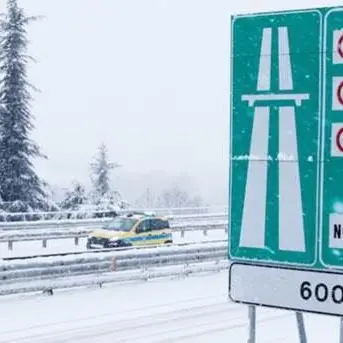
[[[0,342],[241,343],[247,308],[228,302],[227,272],[1,298]],[[294,343],[295,315],[259,309],[258,343]],[[305,315],[308,343],[338,342],[339,321]]]

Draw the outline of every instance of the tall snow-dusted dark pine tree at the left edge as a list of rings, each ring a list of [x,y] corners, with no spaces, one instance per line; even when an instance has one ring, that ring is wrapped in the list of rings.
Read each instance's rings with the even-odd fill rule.
[[[20,201],[33,208],[44,203],[44,183],[34,170],[32,160],[44,157],[30,139],[33,116],[27,80],[28,17],[17,0],[7,0],[7,13],[0,20],[0,195],[3,201]]]

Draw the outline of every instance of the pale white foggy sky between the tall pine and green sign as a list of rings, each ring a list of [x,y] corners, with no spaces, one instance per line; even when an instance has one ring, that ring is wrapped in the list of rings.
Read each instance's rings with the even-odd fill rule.
[[[232,14],[339,5],[324,0],[21,0],[30,24],[29,69],[37,161],[61,186],[89,179],[104,141],[125,191],[146,173],[186,173],[225,201]],[[0,11],[5,0],[0,0]],[[154,174],[152,174],[154,175]],[[152,176],[154,178],[154,176]],[[130,181],[131,180],[131,181]],[[132,181],[134,180],[134,181]],[[128,184],[128,181],[130,181]],[[164,181],[161,181],[162,183]],[[137,194],[138,196],[138,194]]]

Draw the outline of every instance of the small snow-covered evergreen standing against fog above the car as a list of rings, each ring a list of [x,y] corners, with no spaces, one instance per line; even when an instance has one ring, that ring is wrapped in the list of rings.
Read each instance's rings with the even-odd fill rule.
[[[104,198],[113,201],[117,192],[111,191],[110,172],[118,168],[118,163],[108,161],[108,151],[104,143],[99,146],[95,159],[91,162],[91,179],[93,183],[93,201],[98,204]]]

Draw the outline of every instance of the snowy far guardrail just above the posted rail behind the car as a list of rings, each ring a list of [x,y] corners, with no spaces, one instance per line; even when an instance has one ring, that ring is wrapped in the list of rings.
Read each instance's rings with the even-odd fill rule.
[[[208,218],[226,218],[227,214],[225,212],[220,213],[198,213],[198,214],[188,214],[188,215],[167,215],[166,216],[171,222],[178,221],[196,221]],[[57,229],[57,228],[101,228],[105,223],[113,220],[113,218],[96,218],[96,219],[78,219],[78,220],[45,220],[45,221],[35,221],[35,222],[2,222],[0,223],[0,231],[5,230],[23,230],[23,229]]]

